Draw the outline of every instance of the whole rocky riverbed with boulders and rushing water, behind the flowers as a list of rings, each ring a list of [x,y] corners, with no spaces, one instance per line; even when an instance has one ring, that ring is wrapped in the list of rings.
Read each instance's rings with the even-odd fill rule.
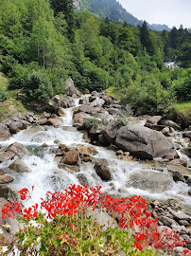
[[[191,249],[190,126],[182,131],[165,115],[130,117],[128,105],[105,93],[74,94],[71,86],[63,100],[32,104],[43,114],[0,122],[0,209],[26,186],[40,198],[70,183],[101,185],[115,196],[147,197],[159,225]]]

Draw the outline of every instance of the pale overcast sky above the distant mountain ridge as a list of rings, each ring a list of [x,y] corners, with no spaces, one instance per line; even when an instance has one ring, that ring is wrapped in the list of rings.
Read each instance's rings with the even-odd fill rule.
[[[191,27],[191,0],[116,0],[139,20],[149,24]]]

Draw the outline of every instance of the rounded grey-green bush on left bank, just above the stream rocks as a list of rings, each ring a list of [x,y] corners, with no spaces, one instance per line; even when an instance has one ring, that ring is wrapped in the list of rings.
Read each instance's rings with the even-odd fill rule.
[[[46,101],[53,97],[52,82],[44,70],[33,71],[24,80],[24,92],[30,100]]]

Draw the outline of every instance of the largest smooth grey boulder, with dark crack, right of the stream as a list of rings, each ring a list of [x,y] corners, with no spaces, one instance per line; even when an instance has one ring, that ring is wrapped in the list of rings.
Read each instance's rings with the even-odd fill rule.
[[[119,128],[116,132],[115,145],[142,159],[153,159],[163,157],[163,155],[166,157],[173,149],[173,143],[167,137],[157,131],[137,125]]]

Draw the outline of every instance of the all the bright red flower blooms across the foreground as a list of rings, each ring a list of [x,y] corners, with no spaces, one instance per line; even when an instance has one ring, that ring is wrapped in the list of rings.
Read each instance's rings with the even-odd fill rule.
[[[33,190],[33,188],[32,188]],[[156,249],[167,249],[172,251],[174,247],[183,247],[186,241],[182,241],[179,234],[169,229],[159,232],[158,220],[150,217],[147,211],[147,201],[141,196],[134,195],[127,198],[113,198],[111,195],[100,192],[101,187],[88,189],[87,186],[70,185],[64,192],[46,192],[45,199],[42,199],[41,209],[47,211],[50,219],[59,215],[72,215],[77,212],[85,212],[89,207],[96,209],[106,208],[113,214],[120,215],[119,225],[122,229],[130,229],[135,238],[134,246],[140,250],[143,247],[155,247]],[[21,199],[31,198],[31,193],[25,188],[20,192]],[[5,205],[2,210],[2,218],[5,214],[14,217],[15,213],[21,213],[21,204],[17,201]],[[34,218],[38,214],[38,205],[23,211],[26,219]],[[66,239],[62,237],[61,239]],[[67,240],[67,239],[66,239]],[[74,240],[75,241],[75,240]],[[73,242],[74,242],[73,241]],[[67,241],[73,243],[72,241]],[[189,250],[183,251],[184,256],[191,256]]]

